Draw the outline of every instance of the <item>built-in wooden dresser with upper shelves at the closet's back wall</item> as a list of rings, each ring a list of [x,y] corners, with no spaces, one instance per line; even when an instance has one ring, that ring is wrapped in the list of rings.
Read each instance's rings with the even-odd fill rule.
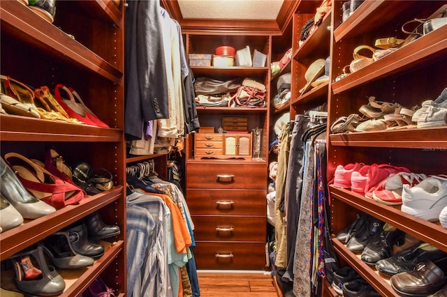
[[[271,53],[272,37],[268,34],[183,33],[187,54],[214,54],[223,44],[236,50],[248,45],[251,51]],[[191,66],[191,70],[196,78],[226,81],[238,77],[242,81],[249,77],[270,89],[270,61],[265,67]],[[197,112],[204,131],[186,139],[185,162],[186,201],[196,227],[197,268],[263,270],[270,106],[198,106]],[[252,158],[252,131],[256,128],[263,131],[261,158]]]

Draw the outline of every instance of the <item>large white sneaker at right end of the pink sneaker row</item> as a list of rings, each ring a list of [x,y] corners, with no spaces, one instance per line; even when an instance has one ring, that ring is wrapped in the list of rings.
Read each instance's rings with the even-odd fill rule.
[[[411,188],[403,185],[402,208],[404,213],[436,222],[447,206],[447,176],[430,176]]]

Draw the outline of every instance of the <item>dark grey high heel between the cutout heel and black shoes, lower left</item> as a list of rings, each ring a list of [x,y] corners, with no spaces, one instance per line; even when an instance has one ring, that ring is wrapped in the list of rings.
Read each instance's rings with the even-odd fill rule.
[[[58,231],[47,236],[42,244],[43,250],[57,268],[78,269],[94,264],[93,258],[78,254],[73,250],[67,231]]]

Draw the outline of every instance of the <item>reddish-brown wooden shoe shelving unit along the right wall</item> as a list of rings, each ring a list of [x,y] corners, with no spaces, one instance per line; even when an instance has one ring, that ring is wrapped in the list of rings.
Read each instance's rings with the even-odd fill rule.
[[[379,61],[335,82],[345,66],[353,60],[358,45],[374,47],[377,38],[406,39],[402,25],[415,18],[429,17],[445,1],[373,1],[365,0],[342,22],[342,4],[333,1],[328,92],[328,127],[339,117],[360,114],[367,96],[376,100],[397,102],[411,108],[424,100],[436,99],[446,85],[447,30],[439,29],[413,40]],[[316,90],[315,90],[316,91]],[[310,94],[310,93],[309,93]],[[362,114],[360,114],[362,115]],[[328,131],[328,180],[337,165],[363,162],[407,167],[411,172],[446,174],[447,127],[402,128],[375,132],[331,134]],[[428,222],[400,211],[400,206],[380,204],[351,190],[329,186],[332,233],[351,224],[362,211],[395,226],[409,236],[447,251],[447,229],[439,222]],[[337,241],[332,243],[342,265],[352,266],[382,296],[398,296],[389,279],[379,275]],[[331,295],[328,295],[331,296]]]

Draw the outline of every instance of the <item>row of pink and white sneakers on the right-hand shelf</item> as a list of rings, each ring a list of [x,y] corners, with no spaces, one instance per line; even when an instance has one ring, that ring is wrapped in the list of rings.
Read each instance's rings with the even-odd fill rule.
[[[388,164],[349,163],[335,169],[333,185],[447,228],[447,175],[427,176]]]

